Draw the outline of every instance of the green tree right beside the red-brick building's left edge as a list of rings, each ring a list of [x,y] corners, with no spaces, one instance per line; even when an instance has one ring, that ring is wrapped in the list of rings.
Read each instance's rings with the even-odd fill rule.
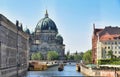
[[[83,54],[83,61],[86,64],[92,63],[92,50],[88,50]]]

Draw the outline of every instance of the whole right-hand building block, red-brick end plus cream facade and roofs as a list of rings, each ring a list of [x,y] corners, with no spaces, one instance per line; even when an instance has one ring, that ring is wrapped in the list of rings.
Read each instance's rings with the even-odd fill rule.
[[[111,56],[108,52],[112,51],[115,57],[120,57],[120,28],[105,27],[104,29],[96,29],[92,37],[92,61],[97,63],[100,59],[108,59]]]

